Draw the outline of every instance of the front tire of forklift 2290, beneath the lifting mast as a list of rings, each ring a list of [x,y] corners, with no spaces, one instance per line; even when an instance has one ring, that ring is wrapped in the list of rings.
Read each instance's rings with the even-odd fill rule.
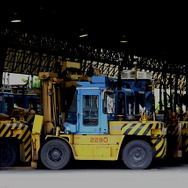
[[[40,156],[45,167],[51,170],[60,170],[69,164],[72,152],[66,141],[54,139],[44,144]]]

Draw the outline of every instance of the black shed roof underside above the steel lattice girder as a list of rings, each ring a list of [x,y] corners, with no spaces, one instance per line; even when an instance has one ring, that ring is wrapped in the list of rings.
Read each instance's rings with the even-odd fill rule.
[[[115,50],[165,60],[170,64],[186,64],[188,29],[185,16],[186,12],[172,3],[165,6],[160,2],[151,5],[137,2],[7,0],[1,6],[0,28],[2,38],[8,33],[8,47],[11,49],[31,50],[27,49],[26,43],[21,46],[23,42],[18,39],[20,35],[25,35],[28,42],[31,35],[31,40],[35,40],[33,44],[37,46],[36,53],[45,49],[49,50],[45,53],[53,52],[54,46],[42,49],[44,44],[39,44],[41,40],[37,42],[40,37],[46,37],[51,41],[66,41],[71,47],[81,43],[91,48],[110,50],[109,53]],[[21,19],[21,23],[12,23],[13,17]],[[80,38],[81,32],[87,36]],[[126,37],[128,42],[120,43],[122,37]]]

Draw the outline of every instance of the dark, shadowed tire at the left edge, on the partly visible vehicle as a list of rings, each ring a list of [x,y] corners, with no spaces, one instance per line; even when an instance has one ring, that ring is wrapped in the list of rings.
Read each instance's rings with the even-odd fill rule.
[[[15,144],[11,142],[0,143],[0,166],[11,167],[18,162],[19,152]]]

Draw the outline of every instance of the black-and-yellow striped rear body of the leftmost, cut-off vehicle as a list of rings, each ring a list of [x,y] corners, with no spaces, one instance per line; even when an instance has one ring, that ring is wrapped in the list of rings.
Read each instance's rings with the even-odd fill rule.
[[[0,125],[0,138],[17,138],[23,143],[25,162],[31,160],[31,131],[24,123],[4,123]]]

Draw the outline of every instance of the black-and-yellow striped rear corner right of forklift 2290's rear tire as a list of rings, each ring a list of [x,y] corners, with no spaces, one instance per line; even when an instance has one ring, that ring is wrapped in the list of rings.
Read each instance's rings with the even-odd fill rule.
[[[167,141],[165,138],[158,138],[151,140],[154,147],[155,147],[155,157],[156,158],[163,158],[166,155],[166,145]]]

